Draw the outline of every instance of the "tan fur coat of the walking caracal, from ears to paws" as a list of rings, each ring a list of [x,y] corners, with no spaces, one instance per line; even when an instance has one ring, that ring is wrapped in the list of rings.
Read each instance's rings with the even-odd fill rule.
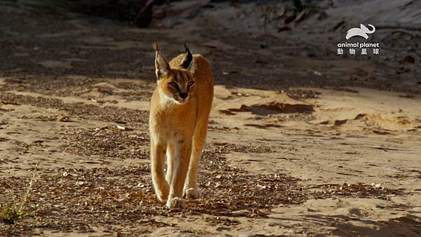
[[[199,198],[197,163],[206,140],[213,79],[210,64],[201,55],[193,55],[187,69],[181,66],[189,53],[187,47],[188,53],[173,58],[169,65],[158,46],[154,48],[158,85],[152,95],[149,116],[152,181],[156,196],[166,201],[168,208],[184,208],[183,196]],[[180,85],[178,89],[170,85],[175,80]],[[194,84],[187,89],[189,81]],[[181,93],[188,94],[185,100]]]

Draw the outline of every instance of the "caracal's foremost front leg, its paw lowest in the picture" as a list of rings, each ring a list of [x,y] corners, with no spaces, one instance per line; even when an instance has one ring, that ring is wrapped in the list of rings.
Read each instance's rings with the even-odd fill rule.
[[[192,140],[182,140],[175,144],[178,146],[178,155],[175,156],[173,177],[170,184],[170,194],[166,206],[171,209],[185,208],[182,190],[185,184],[187,170],[189,169],[190,155],[192,154]]]

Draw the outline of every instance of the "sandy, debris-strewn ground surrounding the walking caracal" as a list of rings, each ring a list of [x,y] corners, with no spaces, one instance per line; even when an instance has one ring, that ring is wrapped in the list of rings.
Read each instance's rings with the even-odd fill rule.
[[[0,235],[421,235],[421,52],[387,50],[412,47],[394,32],[380,30],[381,57],[340,57],[342,32],[328,29],[352,25],[337,17],[342,5],[326,8],[326,31],[313,36],[310,17],[259,32],[252,10],[265,6],[247,4],[148,29],[12,5],[0,20],[1,207],[39,170],[32,214],[0,222]],[[192,42],[213,64],[203,198],[182,212],[156,201],[149,178],[155,39],[167,57]]]

